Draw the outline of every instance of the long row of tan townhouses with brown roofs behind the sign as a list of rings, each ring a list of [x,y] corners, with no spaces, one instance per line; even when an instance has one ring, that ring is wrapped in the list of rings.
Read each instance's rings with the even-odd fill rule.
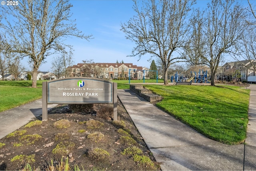
[[[147,68],[138,67],[132,63],[94,63],[77,64],[69,68],[70,77],[95,77],[108,79],[142,80],[144,70]],[[146,74],[145,74],[146,76]]]

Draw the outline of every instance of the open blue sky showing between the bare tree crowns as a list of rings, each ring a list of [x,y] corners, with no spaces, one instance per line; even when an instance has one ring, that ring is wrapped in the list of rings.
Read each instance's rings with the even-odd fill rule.
[[[205,8],[208,2],[210,0],[198,0],[196,7]],[[250,2],[256,4],[255,0]],[[73,46],[74,64],[82,63],[82,60],[106,63],[123,60],[125,63],[150,67],[150,55],[142,56],[139,61],[138,57],[126,57],[131,54],[135,44],[126,40],[120,24],[135,14],[132,0],[70,0],[70,3],[73,5],[72,19],[76,20],[77,28],[86,35],[92,34],[94,38],[89,42],[79,38],[66,40]],[[242,0],[242,3],[247,6],[247,0]],[[52,57],[49,56],[39,70],[51,71],[51,63]]]

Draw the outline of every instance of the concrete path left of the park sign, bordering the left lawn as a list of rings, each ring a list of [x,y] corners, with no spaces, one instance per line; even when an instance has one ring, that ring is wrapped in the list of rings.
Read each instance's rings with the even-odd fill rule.
[[[48,104],[48,110],[56,104]],[[0,139],[42,115],[42,99],[0,112]]]

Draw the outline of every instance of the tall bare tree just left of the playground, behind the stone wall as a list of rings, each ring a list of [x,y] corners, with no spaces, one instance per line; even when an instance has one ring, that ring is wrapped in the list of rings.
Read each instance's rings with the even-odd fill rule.
[[[194,0],[134,0],[136,16],[121,24],[126,38],[136,43],[130,56],[151,54],[160,58],[164,72],[164,84],[168,84],[168,68],[180,62],[182,57],[174,56],[186,40],[188,24],[186,19]],[[142,6],[140,7],[139,4]],[[141,10],[140,10],[141,9]]]

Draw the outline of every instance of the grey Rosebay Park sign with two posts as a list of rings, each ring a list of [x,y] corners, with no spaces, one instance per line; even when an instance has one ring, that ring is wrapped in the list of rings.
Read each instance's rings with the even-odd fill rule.
[[[42,120],[47,120],[47,104],[114,103],[117,120],[117,84],[97,78],[65,78],[43,82]]]

